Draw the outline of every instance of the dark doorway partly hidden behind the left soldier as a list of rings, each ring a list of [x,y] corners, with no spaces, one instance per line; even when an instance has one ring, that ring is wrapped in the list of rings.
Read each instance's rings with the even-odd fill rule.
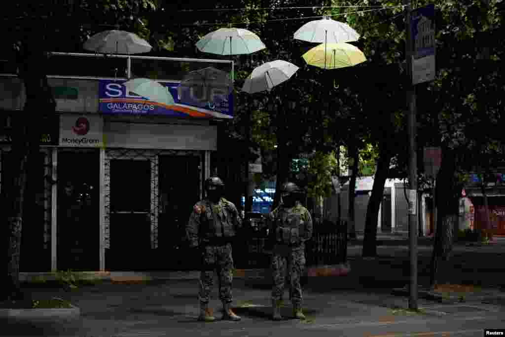
[[[185,257],[185,227],[200,195],[200,159],[194,156],[160,156],[160,213],[158,247],[170,256],[158,266],[165,269],[192,269]]]

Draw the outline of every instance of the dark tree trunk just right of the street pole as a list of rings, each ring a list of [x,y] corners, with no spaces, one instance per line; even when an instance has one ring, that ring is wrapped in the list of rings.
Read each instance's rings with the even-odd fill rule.
[[[436,180],[437,228],[431,257],[430,288],[438,281],[441,261],[450,258],[453,245],[453,228],[458,217],[458,186],[455,178],[455,157],[450,150],[442,156]],[[461,192],[461,191],[460,191]]]

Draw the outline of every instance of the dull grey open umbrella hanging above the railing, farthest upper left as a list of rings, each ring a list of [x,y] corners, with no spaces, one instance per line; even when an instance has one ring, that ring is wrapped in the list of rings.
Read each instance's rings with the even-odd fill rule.
[[[85,50],[102,54],[141,54],[153,47],[143,38],[124,30],[106,30],[94,34],[83,45]]]

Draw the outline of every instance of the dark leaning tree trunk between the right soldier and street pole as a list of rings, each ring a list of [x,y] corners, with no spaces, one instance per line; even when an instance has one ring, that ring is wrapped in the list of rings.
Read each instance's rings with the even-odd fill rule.
[[[389,173],[389,163],[391,155],[381,152],[377,161],[377,170],[374,176],[374,185],[372,195],[368,201],[367,218],[365,222],[365,237],[363,238],[363,256],[377,256],[377,219],[379,217],[379,208],[384,195],[384,185]]]

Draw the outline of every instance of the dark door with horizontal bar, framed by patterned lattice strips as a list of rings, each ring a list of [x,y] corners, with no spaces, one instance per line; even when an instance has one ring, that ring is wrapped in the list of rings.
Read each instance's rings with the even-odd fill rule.
[[[151,162],[111,160],[110,249],[107,270],[150,269]]]

